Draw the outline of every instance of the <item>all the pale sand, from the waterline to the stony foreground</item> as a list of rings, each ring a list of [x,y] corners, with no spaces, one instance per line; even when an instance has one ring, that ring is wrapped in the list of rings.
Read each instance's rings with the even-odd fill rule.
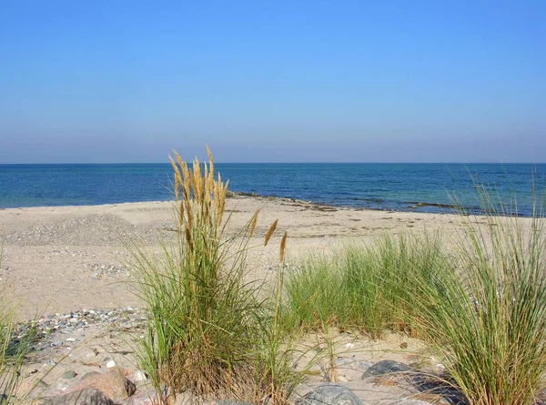
[[[278,246],[285,231],[288,232],[288,265],[297,265],[306,254],[334,252],[349,241],[369,243],[384,231],[394,234],[439,231],[450,239],[457,235],[461,224],[461,218],[452,215],[328,208],[279,199],[237,197],[227,200],[227,210],[232,214],[231,232],[244,226],[258,208],[261,211],[253,240],[257,248],[248,253],[248,279],[267,278],[273,274],[271,269],[278,268]],[[131,257],[123,240],[147,239],[155,243],[157,238],[165,238],[168,241],[174,236],[167,230],[172,227],[173,212],[172,202],[0,209],[0,235],[5,238],[1,277],[5,297],[15,292],[19,299],[17,319],[78,309],[141,306],[129,288],[136,274],[127,266]],[[263,237],[275,219],[278,219],[277,232],[268,247],[261,248]],[[484,223],[483,218],[477,220]],[[41,349],[25,363],[20,392],[28,392],[40,379],[39,390],[34,390],[29,398],[76,390],[87,373],[107,373],[110,359],[115,359],[116,367],[136,381],[133,372],[138,369],[138,363],[134,350],[144,336],[140,336],[141,333],[144,333],[142,329],[126,329],[116,323],[52,330],[37,343]],[[430,355],[422,342],[403,334],[387,333],[384,339],[371,341],[349,332],[332,333],[329,339],[335,350],[333,359],[339,363],[336,366],[338,380],[353,390],[365,405],[423,397],[405,385],[360,380],[362,370],[354,368],[359,361],[394,359],[407,364],[418,362],[430,372],[441,370],[439,360]],[[321,335],[309,339],[310,345],[324,345]],[[315,340],[317,343],[313,343]],[[52,360],[56,366],[48,365]],[[302,361],[305,363],[305,359]],[[324,381],[328,368],[329,359],[320,359],[312,369],[316,375],[310,376],[308,383],[298,388],[298,393],[303,394]],[[75,371],[76,378],[63,379],[67,370]],[[147,393],[147,386],[142,384],[136,383],[136,395]],[[96,388],[105,390],[101,385]]]

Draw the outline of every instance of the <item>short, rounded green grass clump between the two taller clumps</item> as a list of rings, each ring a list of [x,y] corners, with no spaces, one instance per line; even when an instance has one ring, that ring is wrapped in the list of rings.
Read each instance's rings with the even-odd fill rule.
[[[447,263],[439,238],[404,234],[308,257],[286,281],[290,319],[310,330],[337,326],[372,338],[387,329],[412,333],[412,286],[435,282],[436,268]]]

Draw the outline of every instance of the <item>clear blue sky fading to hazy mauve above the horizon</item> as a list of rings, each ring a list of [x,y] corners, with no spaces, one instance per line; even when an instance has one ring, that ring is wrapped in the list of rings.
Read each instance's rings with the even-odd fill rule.
[[[546,1],[0,0],[0,163],[546,162]]]

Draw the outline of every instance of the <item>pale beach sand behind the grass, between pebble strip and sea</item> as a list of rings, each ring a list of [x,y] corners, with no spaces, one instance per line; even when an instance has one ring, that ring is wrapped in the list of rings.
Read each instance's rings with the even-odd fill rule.
[[[278,218],[267,248],[248,254],[248,278],[264,278],[278,264],[278,245],[288,232],[288,263],[302,255],[331,251],[349,240],[367,242],[383,231],[453,233],[452,215],[329,208],[260,197],[227,199],[230,228],[242,227],[261,208],[256,245]],[[0,209],[4,294],[20,298],[17,319],[77,309],[141,305],[126,281],[134,281],[123,239],[172,238],[173,202],[90,207]]]

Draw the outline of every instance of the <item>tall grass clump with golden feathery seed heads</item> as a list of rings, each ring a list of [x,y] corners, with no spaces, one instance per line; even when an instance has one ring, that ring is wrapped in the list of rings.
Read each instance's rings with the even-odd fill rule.
[[[262,286],[246,283],[243,274],[259,211],[236,235],[228,234],[227,183],[215,177],[207,152],[204,165],[196,159],[189,167],[176,153],[171,159],[176,242],[162,244],[155,255],[131,247],[138,293],[149,310],[142,363],[161,392],[285,403],[298,376],[289,367],[288,329],[279,323],[277,294],[264,299]],[[276,227],[277,221],[263,245]],[[280,260],[286,239],[285,234]],[[282,271],[278,279],[282,283]]]

